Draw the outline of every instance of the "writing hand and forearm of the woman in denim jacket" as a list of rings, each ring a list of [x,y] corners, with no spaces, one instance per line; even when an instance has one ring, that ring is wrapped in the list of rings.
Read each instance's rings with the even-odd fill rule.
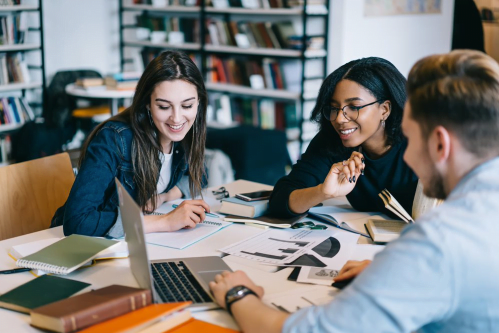
[[[210,206],[204,200],[184,200],[177,208],[164,215],[147,215],[146,233],[172,232],[183,228],[195,228],[204,221]]]

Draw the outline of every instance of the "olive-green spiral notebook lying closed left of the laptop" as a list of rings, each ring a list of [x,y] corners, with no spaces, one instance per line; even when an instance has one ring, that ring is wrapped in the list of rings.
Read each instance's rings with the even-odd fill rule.
[[[47,273],[68,274],[118,243],[104,238],[70,235],[18,260],[16,265]]]

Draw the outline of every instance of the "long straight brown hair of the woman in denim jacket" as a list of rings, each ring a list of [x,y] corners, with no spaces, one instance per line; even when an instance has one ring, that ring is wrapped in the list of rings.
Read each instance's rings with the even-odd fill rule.
[[[151,95],[159,83],[173,80],[185,80],[195,85],[197,89],[199,103],[196,120],[181,143],[189,165],[190,194],[192,197],[201,194],[205,176],[204,147],[208,97],[203,77],[187,54],[167,51],[153,59],[139,79],[132,105],[106,121],[127,123],[134,133],[132,162],[137,187],[136,201],[143,209],[149,199],[153,205],[151,208],[156,209],[155,203],[158,196],[156,187],[161,167],[159,156],[162,151],[160,135],[157,133],[156,126],[148,118],[146,105],[151,103]],[[88,136],[80,156],[80,165],[85,158],[88,144],[106,122],[97,126]]]

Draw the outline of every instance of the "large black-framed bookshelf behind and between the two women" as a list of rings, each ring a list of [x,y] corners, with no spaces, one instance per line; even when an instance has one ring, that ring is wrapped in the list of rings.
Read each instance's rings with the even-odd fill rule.
[[[233,118],[285,131],[292,160],[301,155],[315,135],[308,119],[327,74],[329,0],[247,0],[242,4],[241,0],[118,1],[121,70],[136,70],[132,63],[138,59],[147,63],[164,50],[186,51],[204,75],[212,107],[208,117],[217,127],[234,124],[234,119],[219,119],[221,115],[245,112],[247,117]],[[177,30],[184,33],[184,41],[166,42],[166,35]],[[140,37],[144,31],[146,37]],[[285,31],[291,32],[286,35]],[[242,68],[245,63],[253,68]],[[231,75],[244,79],[232,80]],[[228,104],[224,97],[222,102],[217,99],[225,95]],[[231,105],[229,112],[218,112],[220,104],[230,105],[234,99],[247,107],[253,105],[252,110]],[[263,104],[267,109],[275,106],[275,115],[266,125],[259,123],[263,115],[254,114]],[[285,120],[281,119],[283,112]],[[295,114],[288,115],[290,112]]]

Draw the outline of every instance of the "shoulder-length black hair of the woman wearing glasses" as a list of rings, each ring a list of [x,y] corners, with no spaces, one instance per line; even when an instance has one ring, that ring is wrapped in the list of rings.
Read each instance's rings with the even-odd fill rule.
[[[368,57],[350,61],[339,67],[326,77],[320,87],[311,120],[318,123],[320,131],[330,137],[329,151],[338,153],[352,150],[343,146],[331,122],[325,119],[321,112],[322,109],[329,107],[336,84],[342,79],[360,84],[369,90],[376,99],[391,101],[392,112],[385,121],[386,144],[395,145],[402,142],[404,136],[400,126],[407,98],[406,79],[390,61],[378,57]]]

